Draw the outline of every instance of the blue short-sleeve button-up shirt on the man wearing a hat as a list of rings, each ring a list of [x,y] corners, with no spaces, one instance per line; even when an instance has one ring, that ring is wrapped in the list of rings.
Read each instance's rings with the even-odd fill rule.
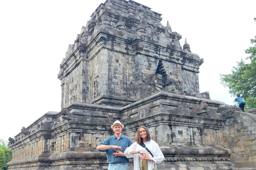
[[[115,145],[121,146],[122,150],[119,149],[121,152],[124,153],[125,149],[131,146],[132,141],[129,137],[124,136],[121,134],[119,140],[117,140],[116,136],[109,136],[103,142],[100,142],[99,145]],[[98,146],[99,146],[98,145]],[[114,149],[110,148],[107,150],[100,150],[101,152],[106,152],[107,155],[107,163],[129,163],[129,159],[126,156],[114,156],[113,153],[116,152]]]

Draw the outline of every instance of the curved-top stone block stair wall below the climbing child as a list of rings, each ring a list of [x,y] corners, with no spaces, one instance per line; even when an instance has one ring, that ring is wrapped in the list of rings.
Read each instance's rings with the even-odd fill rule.
[[[239,108],[240,109],[240,108]],[[256,116],[234,111],[223,130],[225,146],[230,148],[231,162],[237,167],[256,167]]]

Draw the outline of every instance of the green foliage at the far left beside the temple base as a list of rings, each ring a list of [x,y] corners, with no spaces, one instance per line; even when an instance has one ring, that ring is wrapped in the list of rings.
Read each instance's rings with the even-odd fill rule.
[[[0,170],[7,170],[7,162],[12,159],[12,150],[8,148],[7,142],[0,139]]]

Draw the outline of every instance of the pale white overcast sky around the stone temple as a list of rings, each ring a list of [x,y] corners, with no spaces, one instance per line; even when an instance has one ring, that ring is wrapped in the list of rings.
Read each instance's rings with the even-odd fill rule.
[[[200,92],[212,100],[234,105],[234,97],[220,84],[219,74],[248,54],[256,36],[256,1],[135,0],[163,14],[173,32],[185,38],[191,51],[204,58]],[[57,78],[69,44],[105,0],[0,1],[0,139],[14,137],[48,111],[61,110]],[[249,61],[246,61],[249,62]]]

